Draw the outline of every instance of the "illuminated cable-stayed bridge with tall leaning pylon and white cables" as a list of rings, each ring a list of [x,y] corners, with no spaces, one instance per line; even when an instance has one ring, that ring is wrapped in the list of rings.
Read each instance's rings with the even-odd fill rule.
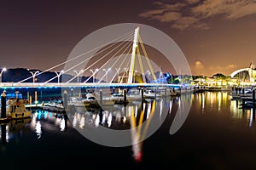
[[[76,54],[72,59],[67,59],[67,61],[45,71],[30,71],[32,77],[27,77],[20,82],[2,82],[1,85],[6,88],[170,86],[163,83],[165,78],[160,66],[152,63],[148,58],[142,37],[139,34],[139,27],[134,32],[131,31],[115,40],[118,41],[108,42],[107,45],[91,50],[90,53],[92,51],[94,53],[90,56],[86,56],[86,54],[90,54],[89,52]],[[63,65],[64,70],[55,71],[60,70],[60,67],[63,68]],[[81,66],[83,66],[83,69],[81,69]],[[1,79],[3,71],[1,72]],[[54,71],[55,77],[51,77],[45,82],[36,81],[39,75],[49,71]],[[155,75],[156,71],[159,71],[158,78]],[[90,76],[84,82],[81,82],[84,73]],[[32,82],[28,82],[31,79]],[[53,82],[55,79],[58,80],[57,83]]]

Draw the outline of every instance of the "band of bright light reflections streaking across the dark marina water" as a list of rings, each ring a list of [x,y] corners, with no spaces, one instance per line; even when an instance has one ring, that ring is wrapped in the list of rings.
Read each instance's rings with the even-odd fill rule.
[[[69,122],[65,116],[49,111],[33,111],[31,119],[11,121],[6,125],[1,125],[1,140],[2,144],[9,144],[24,137],[40,140],[44,139],[45,133],[65,133],[67,128],[71,127],[85,130],[100,126],[112,129],[139,127],[143,122],[150,120],[150,117],[154,114],[158,114],[159,120],[163,119],[163,111],[169,111],[170,115],[173,110],[177,110],[181,106],[180,104],[183,99],[192,101],[191,109],[196,110],[196,112],[190,114],[207,115],[211,111],[211,114],[215,114],[214,116],[218,116],[219,119],[227,116],[233,122],[244,122],[248,127],[253,126],[255,110],[241,109],[241,102],[232,100],[228,93],[209,92],[189,94],[187,96],[182,95],[171,100],[149,100],[147,103],[128,105],[127,107],[115,105],[105,111],[99,109],[83,111],[83,109],[78,109],[73,114],[72,122]],[[155,108],[158,108],[158,110],[154,111]],[[169,117],[167,116],[167,118]],[[166,130],[168,131],[169,129]],[[131,150],[132,156],[136,161],[143,160],[143,142],[137,141],[143,138],[146,131],[146,128],[138,128],[137,131],[131,130],[132,143],[136,143],[131,146]]]

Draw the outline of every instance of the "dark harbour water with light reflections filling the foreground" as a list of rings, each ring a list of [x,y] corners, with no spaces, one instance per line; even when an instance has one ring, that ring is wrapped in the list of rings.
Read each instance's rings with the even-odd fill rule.
[[[182,100],[191,101],[183,126],[170,134]],[[255,169],[255,111],[241,109],[227,93],[183,94],[180,98],[131,106],[136,123],[150,114],[161,118],[160,128],[139,144],[110,147],[85,138],[81,129],[129,129],[131,113],[113,110],[75,111],[71,119],[33,111],[32,119],[1,125],[1,169]],[[133,109],[132,109],[133,108]],[[120,114],[117,116],[117,112]],[[114,115],[115,113],[115,115]],[[130,116],[130,117],[129,117]],[[75,128],[74,128],[75,127]],[[6,129],[6,132],[4,131]],[[108,134],[107,134],[108,135]],[[132,136],[132,135],[131,135]],[[119,140],[119,139],[116,139]]]

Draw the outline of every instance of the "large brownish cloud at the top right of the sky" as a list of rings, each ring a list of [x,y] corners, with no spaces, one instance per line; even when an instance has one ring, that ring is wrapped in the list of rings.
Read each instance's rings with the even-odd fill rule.
[[[179,30],[210,27],[206,20],[214,16],[224,16],[226,20],[236,20],[249,14],[256,14],[255,0],[186,0],[182,3],[155,2],[154,9],[139,14],[140,17],[160,22],[170,22]]]

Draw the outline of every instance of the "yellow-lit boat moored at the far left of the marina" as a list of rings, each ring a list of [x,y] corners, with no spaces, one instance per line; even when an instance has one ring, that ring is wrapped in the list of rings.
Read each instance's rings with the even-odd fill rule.
[[[26,110],[26,104],[28,104],[26,99],[8,99],[6,116],[11,119],[31,117],[32,111]]]

